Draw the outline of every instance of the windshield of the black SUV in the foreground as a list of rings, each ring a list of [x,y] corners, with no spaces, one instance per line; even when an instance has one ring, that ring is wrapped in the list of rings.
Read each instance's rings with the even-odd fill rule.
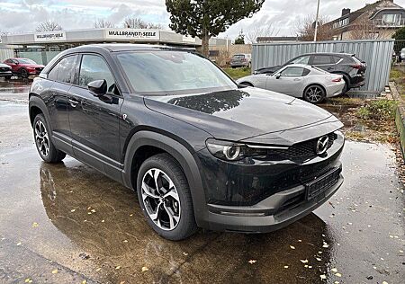
[[[150,50],[117,56],[136,93],[205,93],[237,85],[210,60],[190,52]]]

